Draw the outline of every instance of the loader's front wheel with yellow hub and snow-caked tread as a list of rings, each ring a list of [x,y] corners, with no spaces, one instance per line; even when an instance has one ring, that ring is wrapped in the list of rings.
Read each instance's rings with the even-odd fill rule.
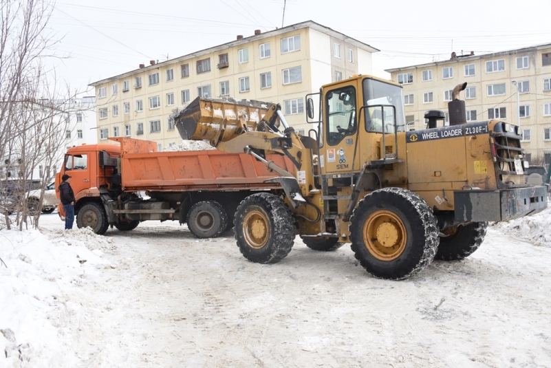
[[[271,193],[246,197],[235,213],[235,240],[246,259],[277,263],[294,244],[294,219],[283,199]]]

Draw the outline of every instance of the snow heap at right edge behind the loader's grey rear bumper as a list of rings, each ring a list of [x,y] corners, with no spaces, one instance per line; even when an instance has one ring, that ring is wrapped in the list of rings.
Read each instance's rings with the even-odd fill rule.
[[[497,222],[492,226],[538,246],[551,248],[551,207],[536,215]]]

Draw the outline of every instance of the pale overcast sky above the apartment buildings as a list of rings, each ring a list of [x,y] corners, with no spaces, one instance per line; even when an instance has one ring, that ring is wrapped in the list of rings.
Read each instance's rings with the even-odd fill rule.
[[[373,74],[445,60],[452,51],[487,54],[551,43],[550,0],[336,1],[60,0],[50,21],[61,39],[50,59],[58,80],[91,82],[282,25],[315,21],[378,50]],[[361,72],[361,71],[360,71]],[[94,95],[94,91],[88,94]]]

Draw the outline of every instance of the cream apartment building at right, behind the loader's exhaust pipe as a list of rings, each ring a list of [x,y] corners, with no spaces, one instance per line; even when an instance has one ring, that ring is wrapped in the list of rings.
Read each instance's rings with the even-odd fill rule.
[[[445,111],[447,124],[453,87],[466,82],[460,97],[466,122],[499,118],[519,124],[528,160],[550,156],[551,44],[479,56],[454,52],[446,61],[387,72],[403,85],[409,129],[425,128],[427,110]]]

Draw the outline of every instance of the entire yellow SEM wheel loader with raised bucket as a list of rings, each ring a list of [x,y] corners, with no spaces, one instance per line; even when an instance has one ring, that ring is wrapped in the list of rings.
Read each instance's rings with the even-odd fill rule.
[[[308,95],[307,120],[318,128],[308,136],[288,126],[280,105],[261,104],[268,112],[253,127],[246,125],[248,116],[224,113],[224,104],[259,102],[197,98],[172,118],[183,139],[250,153],[281,184],[246,197],[237,208],[235,239],[247,259],[280,261],[300,235],[314,250],[352,243],[367,272],[398,280],[435,258],[468,257],[482,243],[487,221],[547,206],[545,187],[524,183],[528,162],[518,127],[501,120],[464,122],[457,96],[465,85],[454,90],[450,126],[436,127],[429,119],[429,129],[418,131],[405,131],[402,87],[371,76]],[[314,95],[318,121],[310,121],[317,115]],[[266,161],[267,153],[285,155],[294,171]]]

